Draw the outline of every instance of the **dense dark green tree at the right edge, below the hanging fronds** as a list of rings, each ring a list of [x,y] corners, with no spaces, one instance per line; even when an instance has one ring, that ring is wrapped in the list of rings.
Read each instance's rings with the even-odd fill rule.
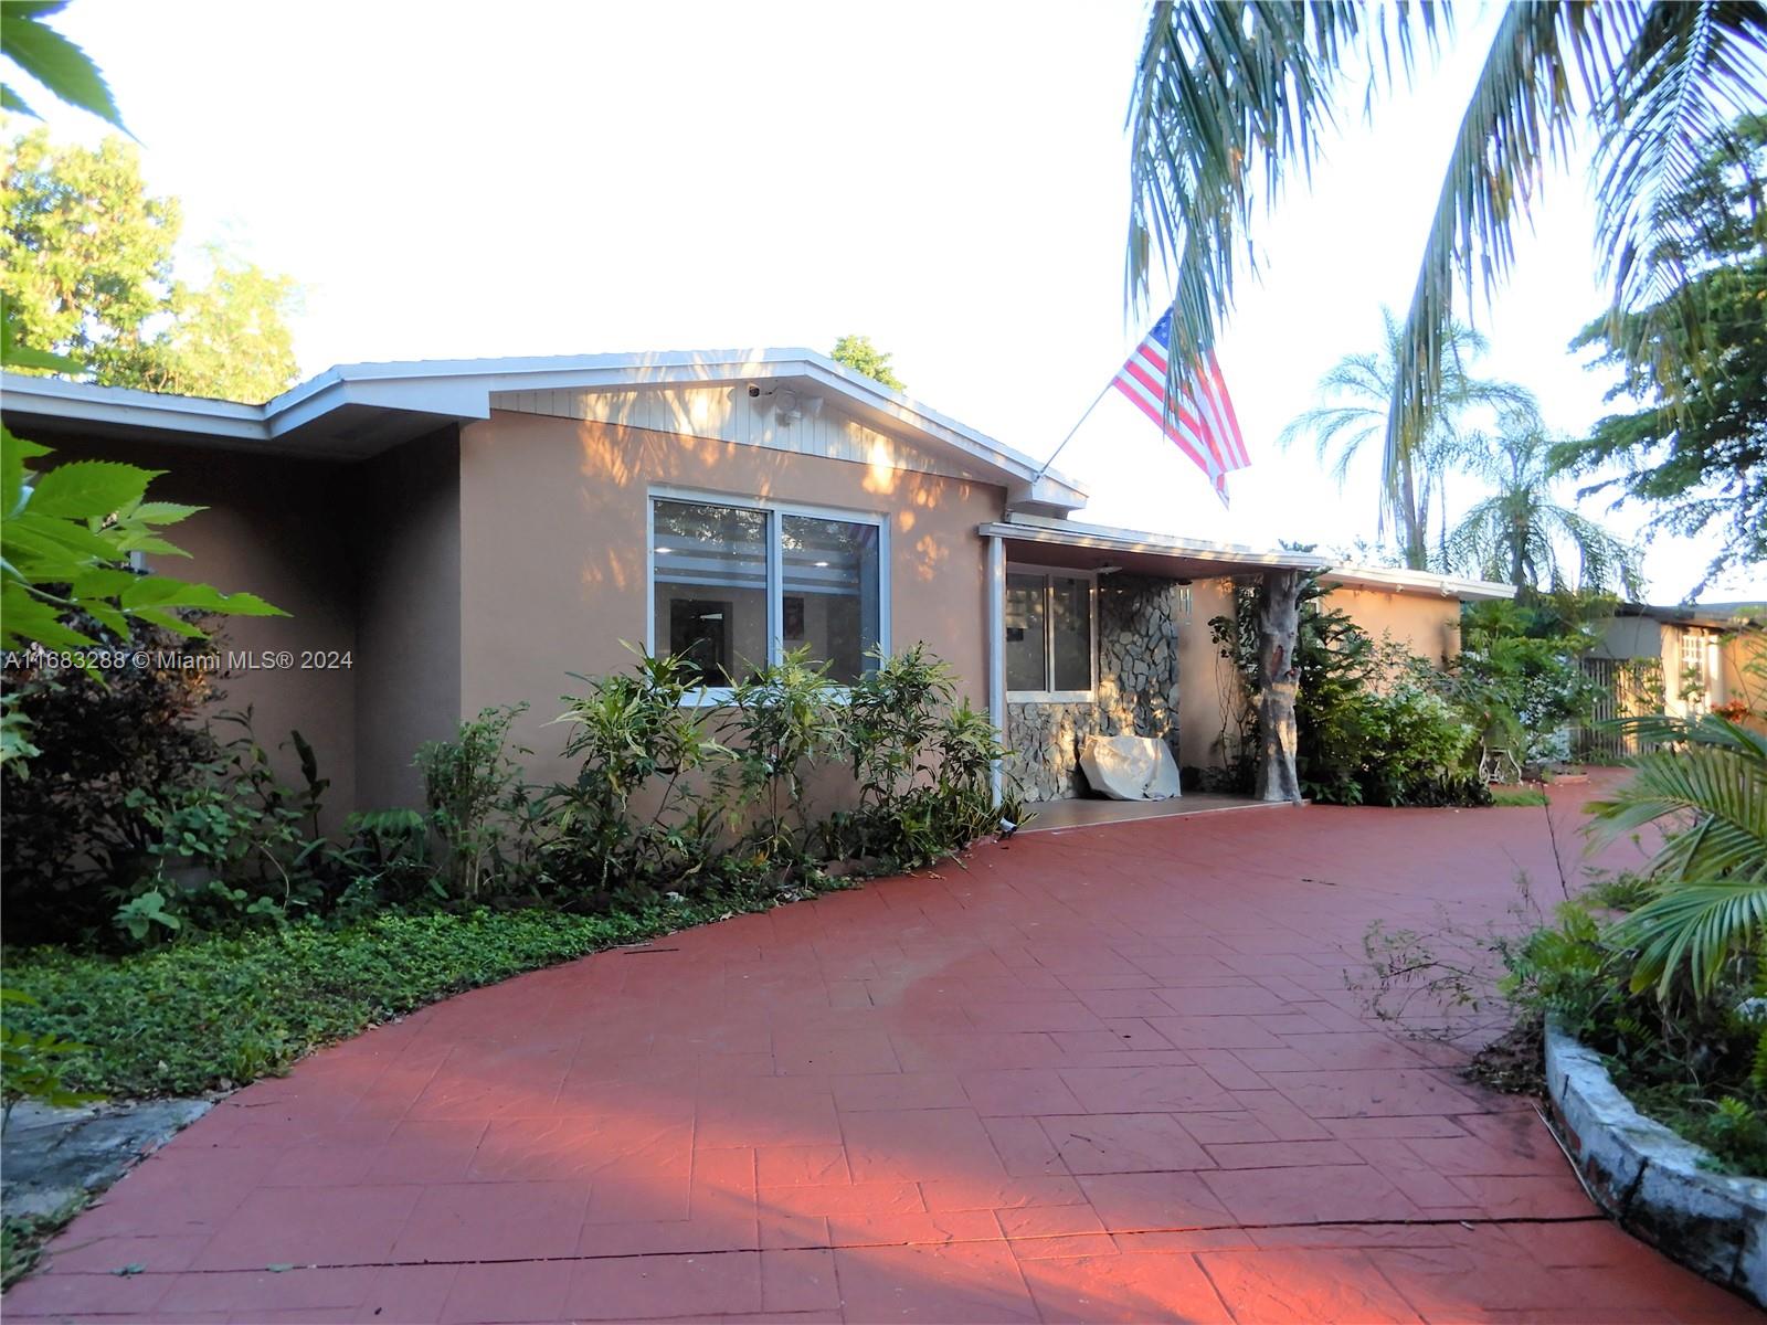
[[[1691,270],[1665,300],[1620,327],[1592,322],[1573,348],[1597,346],[1590,367],[1619,369],[1608,399],[1643,408],[1613,413],[1553,463],[1597,473],[1580,495],[1606,491],[1657,507],[1647,528],[1714,530],[1721,546],[1689,597],[1726,569],[1767,562],[1767,115],[1744,118],[1749,166],[1707,155],[1677,196],[1686,238],[1645,254],[1650,265]],[[1677,316],[1677,306],[1682,314]],[[1666,343],[1666,344],[1665,344]]]

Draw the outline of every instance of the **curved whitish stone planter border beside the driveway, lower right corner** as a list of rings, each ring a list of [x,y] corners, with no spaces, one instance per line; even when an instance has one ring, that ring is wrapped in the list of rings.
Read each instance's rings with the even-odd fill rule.
[[[1710,1155],[1638,1113],[1601,1055],[1551,1019],[1546,1090],[1578,1170],[1620,1228],[1767,1306],[1767,1180],[1700,1168]]]

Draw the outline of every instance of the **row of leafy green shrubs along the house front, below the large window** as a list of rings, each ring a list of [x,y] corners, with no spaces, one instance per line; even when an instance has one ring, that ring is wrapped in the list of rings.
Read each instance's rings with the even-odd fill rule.
[[[640,654],[633,671],[585,678],[585,693],[567,700],[558,721],[569,730],[564,753],[578,761],[569,783],[528,788],[516,761],[527,751],[509,742],[521,708],[486,708],[452,740],[417,753],[422,811],[352,814],[336,837],[320,830],[329,781],[299,731],[290,744],[300,786],[290,788],[249,712],[214,719],[242,731],[221,746],[194,726],[194,701],[166,705],[184,733],[173,744],[182,763],[118,797],[129,850],[104,857],[104,869],[51,869],[51,852],[81,850],[69,846],[80,841],[71,837],[78,800],[55,802],[53,832],[42,834],[53,846],[39,848],[42,867],[23,883],[62,880],[78,905],[57,910],[28,896],[27,906],[51,919],[12,933],[127,949],[290,922],[353,924],[387,906],[539,903],[592,913],[753,885],[783,894],[822,876],[827,852],[861,857],[861,871],[922,864],[1000,822],[988,779],[998,742],[986,716],[952,707],[954,693],[949,670],[921,648],[880,657],[850,693],[797,652],[733,685],[728,703],[707,705],[680,659]],[[80,714],[101,701],[87,694]],[[57,747],[85,751],[94,735],[69,717]],[[822,823],[811,777],[843,765],[862,784],[859,809]],[[25,827],[19,839],[30,844],[28,829],[42,825]]]

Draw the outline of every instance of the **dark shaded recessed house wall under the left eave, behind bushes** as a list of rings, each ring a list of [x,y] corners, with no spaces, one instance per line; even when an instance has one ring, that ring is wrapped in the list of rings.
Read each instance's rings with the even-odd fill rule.
[[[249,590],[288,617],[230,617],[223,622],[231,650],[306,650],[355,655],[355,576],[350,556],[350,491],[336,465],[240,456],[203,447],[44,438],[44,461],[118,459],[163,470],[150,496],[203,505],[166,530],[184,556],[150,556],[150,569],[224,592]],[[332,786],[332,822],[355,806],[355,671],[258,670],[219,682],[219,708],[253,710],[258,742],[272,751],[279,776],[299,784],[299,761],[277,749],[297,728],[315,747],[320,776]],[[235,728],[217,728],[223,737]]]

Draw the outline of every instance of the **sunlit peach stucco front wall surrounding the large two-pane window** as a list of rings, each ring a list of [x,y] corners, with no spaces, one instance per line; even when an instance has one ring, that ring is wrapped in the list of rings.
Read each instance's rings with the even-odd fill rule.
[[[645,521],[654,486],[889,516],[889,641],[924,641],[986,703],[988,484],[687,438],[493,412],[461,433],[461,712],[532,705],[516,738],[535,781],[571,770],[546,723],[578,684],[626,670],[645,643]]]

